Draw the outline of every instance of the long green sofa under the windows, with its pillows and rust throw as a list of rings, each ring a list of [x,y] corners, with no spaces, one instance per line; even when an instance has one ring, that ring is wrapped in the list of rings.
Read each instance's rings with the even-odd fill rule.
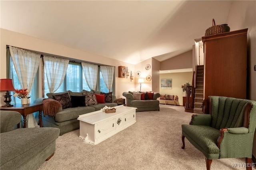
[[[71,102],[71,105],[69,105],[67,108],[63,107],[63,103],[60,98],[60,96],[65,94],[66,96],[68,96],[68,98],[65,98],[64,100]],[[60,135],[63,135],[67,132],[71,132],[72,130],[76,130],[79,128],[79,121],[77,120],[79,115],[98,111],[104,106],[117,106],[116,103],[113,103],[116,100],[116,96],[112,95],[112,92],[103,93],[105,96],[101,103],[96,102],[91,103],[89,106],[85,106],[85,103],[91,102],[89,98],[92,97],[93,94],[102,95],[102,92],[83,90],[81,92],[66,91],[61,93],[46,94],[48,96],[48,99],[54,99],[54,97],[58,97],[58,99],[60,99],[60,102],[54,99],[51,101],[49,100],[49,102],[46,103],[44,101],[45,98],[36,99],[35,103],[43,103],[43,127],[59,128]],[[86,97],[85,95],[90,95],[90,97]],[[105,102],[105,99],[108,99],[108,102]],[[61,107],[53,110],[53,108],[56,107],[56,105],[60,105],[60,103],[62,103]],[[56,113],[52,113],[54,111]]]

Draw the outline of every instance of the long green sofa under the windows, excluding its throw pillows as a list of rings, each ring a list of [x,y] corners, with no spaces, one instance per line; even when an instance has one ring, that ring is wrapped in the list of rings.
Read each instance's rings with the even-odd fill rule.
[[[85,93],[101,94],[100,91],[85,91],[84,90],[81,92],[66,91],[66,92],[61,92],[61,93],[47,93],[46,95],[48,96],[48,98],[53,99],[54,96],[62,95],[64,93],[68,93],[70,99],[73,96],[81,97]],[[107,94],[109,95],[109,93],[107,93]],[[43,127],[59,128],[60,135],[63,135],[67,132],[71,132],[72,130],[76,130],[80,127],[79,121],[77,120],[79,115],[98,111],[98,110],[102,109],[104,106],[108,106],[108,107],[117,106],[116,103],[113,103],[113,101],[116,100],[116,96],[112,95],[111,97],[112,97],[112,102],[98,103],[96,105],[82,106],[82,107],[68,107],[65,109],[60,108],[56,114],[46,113],[47,111],[45,109],[45,104],[43,102],[43,99],[45,99],[45,98],[36,99],[35,103],[43,103],[43,113],[44,113],[44,116],[42,119]],[[57,101],[49,102],[50,105],[48,107],[53,108],[56,105],[56,102]]]

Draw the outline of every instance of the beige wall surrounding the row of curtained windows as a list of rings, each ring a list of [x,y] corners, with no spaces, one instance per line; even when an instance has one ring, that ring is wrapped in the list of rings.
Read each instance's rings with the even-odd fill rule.
[[[39,51],[43,53],[49,53],[53,55],[59,55],[68,58],[74,58],[81,61],[89,61],[93,63],[99,63],[104,65],[112,65],[116,67],[115,71],[115,81],[116,81],[116,97],[123,97],[122,93],[124,91],[134,91],[134,81],[126,78],[118,78],[118,66],[123,65],[132,70],[134,73],[134,65],[124,63],[122,61],[110,59],[101,55],[96,55],[86,51],[81,51],[78,49],[66,47],[56,43],[40,40],[38,38],[26,36],[24,34],[12,32],[9,30],[0,30],[0,78],[6,78],[6,45],[12,45],[15,47],[20,47],[24,49],[30,49],[34,51]],[[40,71],[41,72],[41,71]],[[40,87],[42,88],[42,87]],[[3,92],[0,93],[1,96],[4,95]],[[3,97],[0,98],[0,105],[5,103],[2,101]]]

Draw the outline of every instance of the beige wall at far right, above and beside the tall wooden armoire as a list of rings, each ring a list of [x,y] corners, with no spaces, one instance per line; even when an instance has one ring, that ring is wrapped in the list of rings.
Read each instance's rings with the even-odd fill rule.
[[[256,101],[256,1],[234,1],[230,8],[227,20],[230,31],[248,28],[247,33],[247,55],[249,72],[249,92],[248,98]],[[254,142],[252,154],[256,157],[256,133],[254,133]]]

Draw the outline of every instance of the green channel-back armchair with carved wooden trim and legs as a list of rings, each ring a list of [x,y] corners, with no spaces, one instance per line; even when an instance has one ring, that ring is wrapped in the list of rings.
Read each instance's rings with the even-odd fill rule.
[[[182,125],[182,149],[186,137],[204,154],[207,170],[220,158],[246,158],[251,170],[256,101],[209,96],[209,107],[209,114],[192,115],[189,125]]]

